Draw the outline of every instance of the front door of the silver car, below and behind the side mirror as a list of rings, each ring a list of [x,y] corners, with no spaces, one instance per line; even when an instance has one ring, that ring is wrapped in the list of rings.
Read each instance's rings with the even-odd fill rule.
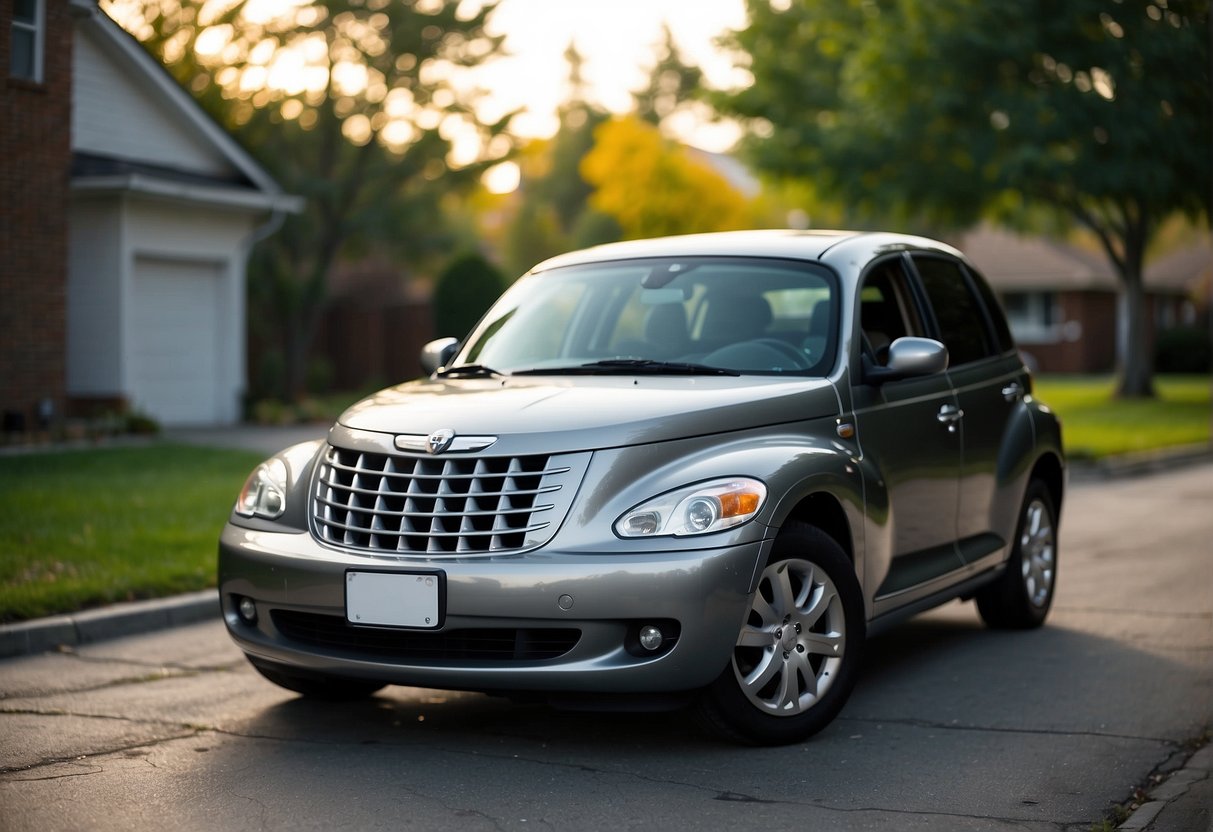
[[[927,335],[904,255],[870,268],[859,306],[869,361],[883,364],[888,344],[901,336]],[[879,615],[928,594],[934,582],[963,568],[956,552],[957,404],[946,372],[883,384],[859,377],[853,401],[865,471],[883,478],[867,494],[869,512],[888,535],[887,547],[871,551],[887,551],[888,558],[870,558],[865,572]],[[881,498],[884,505],[877,505]]]

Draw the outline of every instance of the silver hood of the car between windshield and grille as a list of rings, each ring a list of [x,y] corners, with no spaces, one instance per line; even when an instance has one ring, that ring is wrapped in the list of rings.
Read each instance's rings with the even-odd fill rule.
[[[423,380],[359,401],[338,423],[377,433],[511,437],[583,451],[799,422],[838,412],[824,378],[610,376]],[[513,443],[511,443],[513,444]]]

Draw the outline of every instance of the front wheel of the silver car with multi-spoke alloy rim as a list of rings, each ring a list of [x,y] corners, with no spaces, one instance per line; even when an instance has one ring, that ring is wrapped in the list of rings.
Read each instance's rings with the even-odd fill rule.
[[[815,526],[790,524],[775,538],[728,667],[700,697],[701,718],[751,745],[805,740],[847,702],[864,634],[864,598],[842,547]]]

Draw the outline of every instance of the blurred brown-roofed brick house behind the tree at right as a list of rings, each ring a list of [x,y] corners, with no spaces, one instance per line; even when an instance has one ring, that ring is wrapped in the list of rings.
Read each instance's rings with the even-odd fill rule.
[[[1116,365],[1118,278],[1107,258],[1043,237],[990,226],[956,245],[1002,298],[1020,348],[1043,372],[1106,372]],[[1197,323],[1197,296],[1213,275],[1213,245],[1200,244],[1145,267],[1152,336]],[[1203,290],[1207,292],[1207,287]],[[1207,309],[1207,300],[1205,301]]]

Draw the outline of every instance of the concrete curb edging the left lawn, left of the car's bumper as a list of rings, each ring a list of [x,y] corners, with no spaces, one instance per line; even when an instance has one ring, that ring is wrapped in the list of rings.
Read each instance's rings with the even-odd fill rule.
[[[218,616],[218,591],[203,589],[172,598],[114,604],[73,615],[0,625],[0,659],[44,653],[59,645],[91,644]]]

